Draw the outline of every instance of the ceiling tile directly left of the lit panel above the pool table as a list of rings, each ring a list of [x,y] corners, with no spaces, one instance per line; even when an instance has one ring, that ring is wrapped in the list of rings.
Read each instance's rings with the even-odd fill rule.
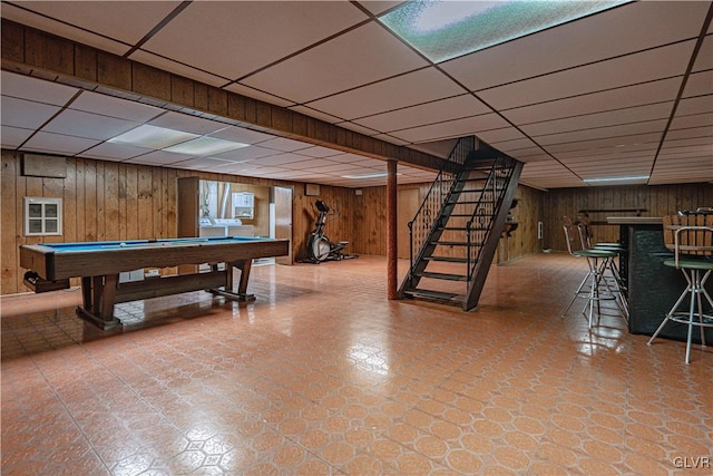
[[[42,127],[42,130],[88,139],[106,140],[133,129],[138,125],[139,123],[117,119],[116,117],[65,109]]]

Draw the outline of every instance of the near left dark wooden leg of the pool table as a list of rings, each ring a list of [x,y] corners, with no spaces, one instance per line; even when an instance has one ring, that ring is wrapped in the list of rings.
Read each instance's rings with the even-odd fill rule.
[[[114,317],[118,282],[118,274],[82,278],[81,297],[84,305],[77,308],[77,314],[105,330],[121,326],[121,322]]]

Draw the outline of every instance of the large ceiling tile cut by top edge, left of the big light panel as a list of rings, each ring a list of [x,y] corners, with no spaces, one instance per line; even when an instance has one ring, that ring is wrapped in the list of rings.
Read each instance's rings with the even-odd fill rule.
[[[144,49],[237,79],[367,18],[349,2],[196,1]]]

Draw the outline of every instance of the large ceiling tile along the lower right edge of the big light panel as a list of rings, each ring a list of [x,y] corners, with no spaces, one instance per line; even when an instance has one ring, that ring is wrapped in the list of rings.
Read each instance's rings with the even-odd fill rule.
[[[440,66],[480,90],[695,37],[706,10],[706,2],[632,2]]]

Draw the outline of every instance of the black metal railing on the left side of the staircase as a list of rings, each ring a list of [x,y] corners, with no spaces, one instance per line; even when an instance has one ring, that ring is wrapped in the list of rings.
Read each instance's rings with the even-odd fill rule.
[[[448,156],[448,161],[443,163],[443,166],[431,184],[413,220],[408,223],[410,237],[410,268],[408,280],[412,285],[414,265],[418,262],[418,259],[414,259],[414,256],[420,256],[423,249],[428,245],[428,237],[431,231],[439,225],[438,222],[443,203],[448,200],[456,185],[457,173],[452,172],[453,165],[462,166],[466,158],[468,158],[468,154],[475,146],[476,138],[473,136],[463,137],[458,140]]]

